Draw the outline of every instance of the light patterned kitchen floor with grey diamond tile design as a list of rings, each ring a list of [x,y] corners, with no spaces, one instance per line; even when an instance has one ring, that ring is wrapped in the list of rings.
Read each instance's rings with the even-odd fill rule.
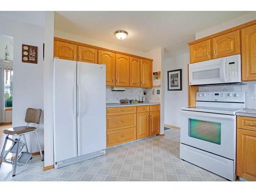
[[[180,130],[108,148],[106,155],[74,165],[42,171],[44,162],[34,156],[18,166],[3,163],[0,181],[226,181],[179,159]]]

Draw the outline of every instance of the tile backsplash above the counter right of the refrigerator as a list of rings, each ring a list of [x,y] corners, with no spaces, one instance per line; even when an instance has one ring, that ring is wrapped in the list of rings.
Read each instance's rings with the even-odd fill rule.
[[[118,103],[120,99],[142,99],[143,91],[146,92],[148,102],[160,102],[160,95],[157,94],[157,89],[143,88],[125,88],[125,91],[112,91],[111,87],[106,87],[106,103]]]

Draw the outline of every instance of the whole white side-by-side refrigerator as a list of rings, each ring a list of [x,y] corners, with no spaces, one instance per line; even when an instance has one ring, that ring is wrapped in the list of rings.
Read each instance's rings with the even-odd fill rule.
[[[54,166],[105,154],[105,65],[54,58]]]

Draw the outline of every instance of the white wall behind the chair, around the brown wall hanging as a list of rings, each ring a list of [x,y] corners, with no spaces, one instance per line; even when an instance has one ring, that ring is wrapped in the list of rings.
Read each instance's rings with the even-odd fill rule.
[[[12,36],[13,44],[13,126],[25,125],[26,109],[44,107],[44,62],[42,61],[42,44],[44,27],[31,25],[0,16],[0,34]],[[38,47],[38,64],[23,63],[22,44]],[[38,130],[41,146],[44,141],[44,121]],[[28,147],[38,152],[36,137],[28,135]]]

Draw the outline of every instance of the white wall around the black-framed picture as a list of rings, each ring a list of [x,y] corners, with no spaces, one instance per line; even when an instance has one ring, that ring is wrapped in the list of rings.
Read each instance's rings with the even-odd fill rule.
[[[180,127],[180,108],[187,106],[189,53],[164,60],[164,123]],[[182,69],[182,91],[167,91],[167,71]]]

